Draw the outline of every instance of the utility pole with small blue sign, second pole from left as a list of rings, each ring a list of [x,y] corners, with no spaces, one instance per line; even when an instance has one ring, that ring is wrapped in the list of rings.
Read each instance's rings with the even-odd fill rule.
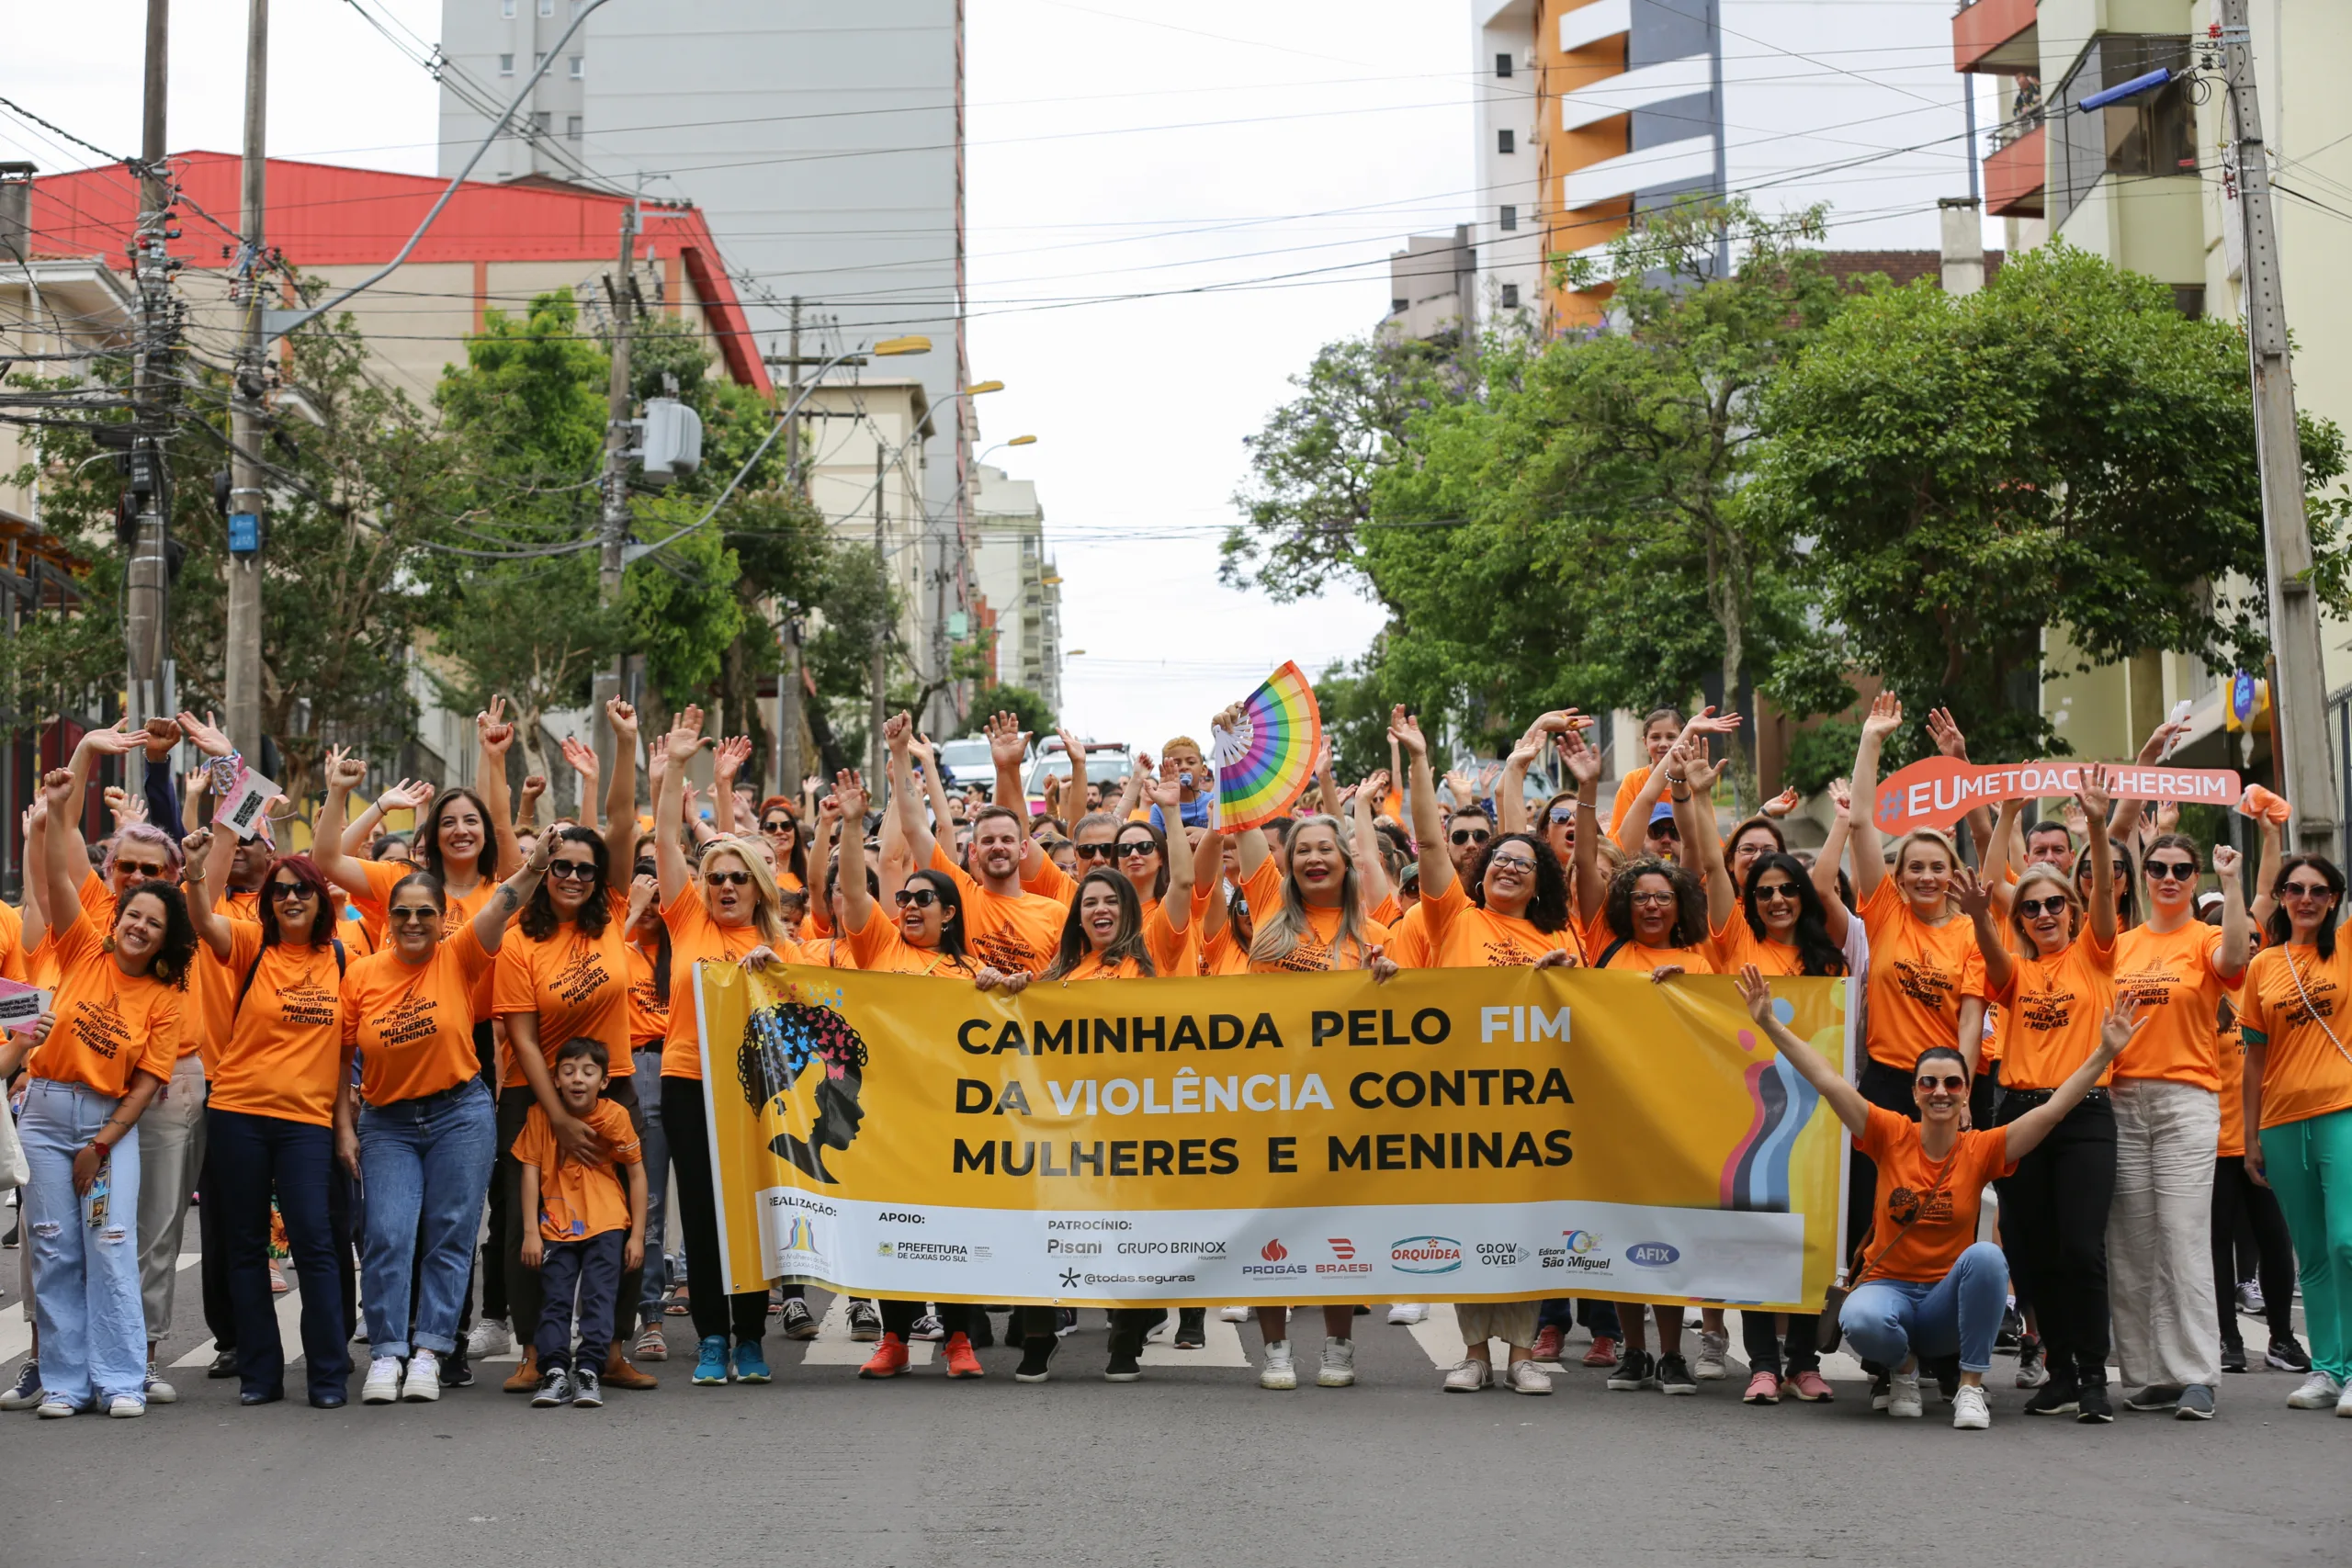
[[[268,341],[261,336],[261,228],[268,202],[268,101],[270,101],[270,0],[252,0],[245,21],[245,193],[238,228],[242,256],[230,287],[245,322],[238,369],[228,393],[228,639],[226,705],[228,741],[247,757],[261,757],[261,520],[268,496],[261,484],[261,393]]]

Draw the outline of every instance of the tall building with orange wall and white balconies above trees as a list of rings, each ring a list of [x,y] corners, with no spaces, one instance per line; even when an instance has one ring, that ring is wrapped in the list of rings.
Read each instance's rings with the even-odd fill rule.
[[[1813,0],[1470,0],[1479,320],[1602,317],[1555,287],[1632,214],[1691,195],[1830,202],[1839,249],[1936,249],[1969,195],[1966,96],[1945,16]]]

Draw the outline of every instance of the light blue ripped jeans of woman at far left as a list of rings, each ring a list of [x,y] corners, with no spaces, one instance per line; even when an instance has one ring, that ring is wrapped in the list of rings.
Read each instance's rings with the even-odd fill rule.
[[[120,1394],[146,1403],[146,1307],[139,1300],[139,1128],[106,1157],[106,1220],[87,1222],[73,1157],[120,1100],[87,1084],[33,1079],[24,1095],[24,1239],[33,1258],[40,1385],[78,1410]]]

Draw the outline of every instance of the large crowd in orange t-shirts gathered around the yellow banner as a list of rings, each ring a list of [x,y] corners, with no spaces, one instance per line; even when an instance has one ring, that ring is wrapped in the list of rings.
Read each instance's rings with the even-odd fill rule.
[[[42,778],[24,907],[0,907],[0,976],[54,992],[0,1044],[35,1324],[0,1408],[132,1418],[176,1399],[155,1347],[198,1190],[207,1371],[242,1403],[287,1394],[278,1229],[320,1408],[350,1396],[362,1340],[362,1403],[440,1399],[520,1345],[508,1392],[597,1406],[656,1385],[668,1316],[691,1319],[696,1385],[769,1382],[767,1335],[818,1326],[795,1281],[717,1284],[680,987],[696,964],[818,964],[993,992],[1411,966],[1736,976],[1853,1135],[1844,1281],[1818,1314],[1740,1312],[1745,1403],[1830,1401],[1823,1354],[1846,1338],[1891,1418],[1924,1415],[1931,1382],[1955,1427],[1987,1427],[1985,1375],[2009,1352],[2027,1415],[2112,1420],[2112,1356],[2129,1408],[2206,1420],[2223,1375],[2249,1368],[2237,1319],[2258,1288],[2263,1359],[2303,1373],[2288,1406],[2352,1415],[2345,875],[2284,853],[2270,818],[2251,900],[2239,851],[2114,799],[2103,766],[2058,818],[2009,802],[1884,844],[1867,802],[1903,724],[1891,696],[1811,849],[1790,842],[1792,792],[1722,830],[1712,738],[1738,719],[1712,710],[1649,715],[1649,764],[1606,806],[1573,710],[1529,724],[1491,790],[1439,780],[1397,710],[1390,769],[1341,788],[1327,752],[1294,816],[1235,832],[1183,736],[1120,785],[1077,764],[1033,809],[1009,715],[988,724],[993,790],[953,783],[901,715],[887,780],[842,771],[757,799],[736,788],[748,741],[706,738],[689,708],[647,738],[640,809],[637,715],[616,701],[604,717],[621,762],[600,788],[595,752],[567,745],[581,811],[543,827],[546,780],[510,799],[496,705],[477,715],[475,788],[400,780],[355,809],[369,766],[332,752],[308,853],[275,849],[285,802],[259,837],[207,825],[242,759],[195,715],[89,731]],[[1929,733],[1966,757],[1950,715]],[[186,790],[181,745],[207,759]],[[691,783],[706,750],[708,799]],[[92,776],[132,752],[141,790],[108,792],[113,832],[89,844]],[[1536,769],[1564,785],[1541,804]],[[402,811],[414,835],[383,832]],[[1771,985],[1792,976],[1858,983],[1851,1070],[1776,1018]],[[1073,1314],[1000,1312],[1014,1378],[1047,1380]],[[1322,1307],[1317,1385],[1355,1382],[1359,1312]],[[1103,1375],[1138,1378],[1162,1333],[1204,1345],[1207,1307],[1169,1316],[1115,1307]],[[1256,1316],[1261,1387],[1298,1385],[1284,1305],[1223,1316]],[[1446,1392],[1552,1392],[1578,1324],[1609,1389],[1729,1375],[1719,1307],[1698,1309],[1696,1356],[1675,1302],[1461,1302],[1456,1319]],[[990,1309],[955,1302],[856,1300],[847,1326],[875,1345],[866,1378],[908,1373],[915,1340],[941,1345],[948,1378],[981,1378],[997,1342]]]

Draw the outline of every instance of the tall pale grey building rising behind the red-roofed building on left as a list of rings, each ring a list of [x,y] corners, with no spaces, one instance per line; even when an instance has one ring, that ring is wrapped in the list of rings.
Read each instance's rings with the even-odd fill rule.
[[[442,0],[445,174],[489,129],[485,103],[515,94],[574,9],[576,0]],[[948,625],[969,609],[962,31],[962,0],[607,5],[560,49],[477,169],[691,200],[764,355],[788,353],[795,296],[802,355],[931,339],[929,355],[896,357],[887,371],[917,376],[953,437],[922,475],[922,625],[910,649],[922,670],[946,663]],[[790,378],[793,367],[779,367],[776,381]],[[953,733],[931,717],[936,733]]]

